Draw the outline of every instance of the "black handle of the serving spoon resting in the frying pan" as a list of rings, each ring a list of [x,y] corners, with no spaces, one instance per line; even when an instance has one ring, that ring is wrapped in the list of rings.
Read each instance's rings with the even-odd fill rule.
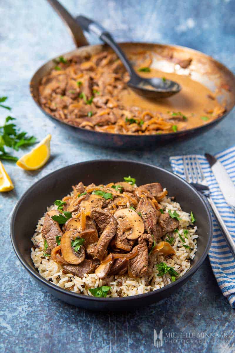
[[[112,35],[105,28],[85,16],[78,16],[76,17],[76,20],[78,21],[82,29],[97,35],[103,42],[107,43],[118,55],[119,59],[122,61],[123,65],[128,71],[129,75],[136,76],[136,72],[132,67],[130,61],[127,59],[126,55],[119,47],[119,45],[115,42]]]

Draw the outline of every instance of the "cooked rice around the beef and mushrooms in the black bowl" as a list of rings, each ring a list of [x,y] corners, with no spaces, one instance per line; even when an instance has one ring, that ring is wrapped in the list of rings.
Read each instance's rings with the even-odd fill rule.
[[[185,240],[182,243],[178,233],[174,233],[174,245],[175,255],[171,258],[165,258],[159,256],[157,263],[165,262],[168,266],[171,266],[179,274],[179,277],[183,276],[191,266],[191,260],[194,258],[197,251],[197,227],[193,226],[191,222],[190,214],[181,210],[180,204],[172,202],[170,198],[165,198],[160,203],[162,209],[165,211],[176,210],[179,214],[181,221],[179,224],[179,233]],[[47,211],[55,209],[52,205]],[[136,294],[143,294],[156,289],[162,288],[165,285],[171,283],[171,275],[166,274],[164,277],[158,275],[156,266],[154,266],[154,272],[149,277],[138,277],[133,279],[124,274],[122,276],[109,276],[101,280],[95,274],[85,275],[82,279],[74,276],[73,274],[64,274],[63,268],[56,262],[51,260],[49,257],[43,257],[44,240],[42,237],[42,226],[44,217],[38,221],[38,225],[35,234],[32,237],[32,242],[37,248],[31,248],[31,258],[38,269],[39,274],[47,280],[55,283],[57,286],[72,291],[74,293],[80,293],[85,295],[91,295],[88,291],[89,288],[97,288],[100,286],[110,286],[110,294],[107,297],[128,297]],[[188,230],[187,238],[184,237],[184,229]],[[160,239],[162,240],[162,239]],[[160,241],[159,240],[159,241]],[[165,240],[165,239],[163,239]],[[190,246],[190,249],[186,249],[184,245]],[[178,277],[177,277],[178,278]],[[177,281],[177,279],[176,279]]]

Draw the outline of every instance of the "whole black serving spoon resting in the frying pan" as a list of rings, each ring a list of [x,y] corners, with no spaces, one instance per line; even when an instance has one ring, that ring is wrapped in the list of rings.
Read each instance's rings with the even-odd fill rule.
[[[82,29],[96,34],[103,42],[107,43],[115,51],[130,75],[128,86],[136,93],[147,98],[167,98],[181,90],[181,86],[177,82],[159,77],[144,78],[137,75],[122,49],[106,29],[85,16],[78,16],[76,17],[76,20]]]

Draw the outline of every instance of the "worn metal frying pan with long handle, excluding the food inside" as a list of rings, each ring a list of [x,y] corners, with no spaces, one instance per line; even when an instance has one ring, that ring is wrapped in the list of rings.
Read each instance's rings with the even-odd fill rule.
[[[105,45],[88,45],[88,42],[79,24],[67,12],[67,10],[57,0],[48,0],[48,2],[66,23],[77,46],[77,49],[73,50],[72,52],[63,53],[60,55],[63,55],[64,58],[68,59],[70,56],[75,54],[82,54],[84,52],[97,54],[103,50],[107,50]],[[233,109],[235,105],[235,76],[231,71],[228,70],[227,67],[211,58],[211,56],[205,55],[204,53],[190,48],[165,44],[129,42],[119,43],[119,45],[127,54],[137,52],[138,50],[150,51],[156,58],[156,68],[158,68],[157,65],[161,65],[160,70],[162,71],[164,71],[162,68],[162,65],[164,64],[167,65],[168,68],[172,68],[174,72],[177,73],[177,66],[175,65],[175,62],[177,60],[186,60],[188,58],[192,58],[190,68],[187,68],[184,74],[190,74],[192,79],[204,84],[212,92],[219,92],[219,94],[217,94],[217,100],[220,103],[226,103],[226,112],[220,118],[217,118],[208,124],[184,131],[161,135],[113,134],[74,127],[56,119],[51,114],[45,112],[39,103],[38,86],[41,82],[41,79],[52,69],[52,67],[54,67],[55,58],[53,58],[41,66],[33,75],[30,81],[30,93],[38,107],[41,108],[45,114],[50,116],[50,118],[56,119],[61,126],[67,129],[68,134],[73,134],[74,136],[86,142],[106,147],[128,149],[147,148],[150,146],[162,145],[169,140],[175,141],[182,138],[196,136],[197,134],[205,132],[206,130],[209,130],[211,127],[218,124],[219,121],[224,119],[225,116],[231,111],[231,109]],[[57,57],[60,55],[57,55]],[[182,70],[182,68],[179,66],[178,70]]]

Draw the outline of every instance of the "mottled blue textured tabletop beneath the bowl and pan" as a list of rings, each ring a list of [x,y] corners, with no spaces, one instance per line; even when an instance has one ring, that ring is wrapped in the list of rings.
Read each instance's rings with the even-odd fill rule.
[[[63,1],[106,26],[119,41],[175,43],[214,56],[235,72],[235,2],[211,1]],[[52,134],[50,162],[38,172],[4,163],[15,189],[0,195],[1,352],[234,352],[234,310],[217,286],[208,259],[174,296],[161,305],[134,312],[97,313],[67,305],[38,287],[21,267],[10,244],[9,224],[17,200],[51,171],[94,158],[125,158],[170,168],[168,158],[183,153],[215,154],[234,144],[235,112],[208,133],[147,152],[98,149],[66,136],[47,119],[29,95],[29,80],[49,58],[74,48],[60,18],[46,1],[0,3],[0,95],[9,97],[18,125],[37,136]],[[89,41],[97,43],[96,38]],[[0,111],[1,122],[7,112]],[[27,211],[27,210],[26,210]],[[31,234],[29,234],[29,237]],[[202,339],[163,343],[159,333],[208,334]],[[215,337],[210,334],[215,335]]]

